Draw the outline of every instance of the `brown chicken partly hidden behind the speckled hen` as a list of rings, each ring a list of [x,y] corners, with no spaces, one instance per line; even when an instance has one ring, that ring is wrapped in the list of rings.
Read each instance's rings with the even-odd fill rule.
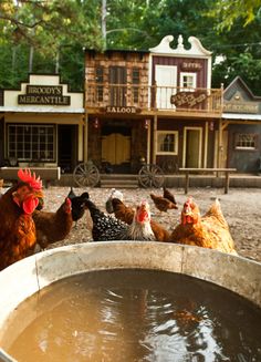
[[[114,210],[114,215],[117,219],[130,225],[133,223],[135,209],[126,206],[118,198],[112,199],[112,206]],[[155,235],[156,240],[158,241],[167,241],[169,239],[169,232],[158,223],[150,219],[150,227]]]

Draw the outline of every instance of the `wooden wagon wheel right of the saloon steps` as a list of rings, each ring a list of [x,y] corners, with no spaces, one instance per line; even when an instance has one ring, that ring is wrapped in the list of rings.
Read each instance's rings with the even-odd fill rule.
[[[138,173],[139,184],[147,187],[161,187],[164,184],[164,172],[157,165],[144,165]]]

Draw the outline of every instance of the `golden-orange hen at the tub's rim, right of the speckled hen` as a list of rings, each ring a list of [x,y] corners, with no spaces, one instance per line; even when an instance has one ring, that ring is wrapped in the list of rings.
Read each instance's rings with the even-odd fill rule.
[[[201,217],[198,205],[192,197],[189,197],[184,204],[181,223],[171,232],[169,241],[237,255],[228,223],[218,199]]]

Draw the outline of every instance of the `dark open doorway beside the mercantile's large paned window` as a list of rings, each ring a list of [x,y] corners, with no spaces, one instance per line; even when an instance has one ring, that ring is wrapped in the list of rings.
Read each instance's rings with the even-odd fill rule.
[[[58,126],[58,165],[62,173],[72,173],[76,166],[76,126]]]

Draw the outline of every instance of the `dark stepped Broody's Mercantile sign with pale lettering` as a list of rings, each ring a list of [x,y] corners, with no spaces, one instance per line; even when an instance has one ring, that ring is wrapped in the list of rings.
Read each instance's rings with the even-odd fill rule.
[[[18,95],[18,104],[70,105],[71,96],[63,95],[61,85],[27,85],[27,93]]]

